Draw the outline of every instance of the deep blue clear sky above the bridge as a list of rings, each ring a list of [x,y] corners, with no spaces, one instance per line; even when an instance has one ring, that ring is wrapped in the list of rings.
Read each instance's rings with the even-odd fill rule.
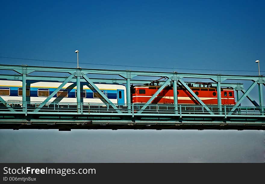
[[[0,56],[76,62],[79,49],[84,63],[254,71],[259,59],[263,71],[264,8],[263,1],[2,1]],[[7,58],[0,63],[76,67]]]

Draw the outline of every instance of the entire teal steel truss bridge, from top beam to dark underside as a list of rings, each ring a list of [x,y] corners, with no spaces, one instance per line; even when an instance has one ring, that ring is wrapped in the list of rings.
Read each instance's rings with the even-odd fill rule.
[[[17,72],[14,75],[0,74],[0,80],[22,81],[22,101],[5,101],[0,96],[1,129],[265,129],[265,106],[262,90],[265,85],[265,77],[262,75],[144,72],[27,65],[0,65],[0,70],[2,73],[7,73],[6,70]],[[46,75],[48,73],[48,76],[44,76],[44,72]],[[57,76],[58,73],[65,73],[67,76]],[[92,78],[90,75],[99,75],[100,77]],[[155,82],[161,87],[147,103],[131,104],[130,86],[132,84],[154,84],[154,79],[157,78],[158,80]],[[218,105],[205,105],[187,82],[184,82],[187,79],[211,80],[212,85],[217,87]],[[244,89],[243,83],[226,83],[226,80],[251,81],[251,85]],[[29,86],[29,83],[39,81],[61,82],[61,85],[43,102],[28,100],[26,87]],[[51,101],[51,98],[68,82],[76,85],[76,102]],[[81,83],[86,83],[96,90],[101,95],[100,99],[103,103],[83,102],[80,95]],[[95,83],[125,85],[127,103],[112,103]],[[151,104],[168,85],[173,86],[174,104]],[[256,85],[258,86],[257,100],[250,96],[251,90]],[[200,105],[178,104],[177,86],[186,88]],[[237,94],[235,105],[221,104],[221,87],[234,88]],[[248,99],[253,105],[242,106],[241,103],[244,99]]]

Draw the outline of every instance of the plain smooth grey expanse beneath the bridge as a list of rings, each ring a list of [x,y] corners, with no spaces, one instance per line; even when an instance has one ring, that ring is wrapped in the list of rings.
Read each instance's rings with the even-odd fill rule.
[[[262,130],[0,130],[0,162],[264,162]]]

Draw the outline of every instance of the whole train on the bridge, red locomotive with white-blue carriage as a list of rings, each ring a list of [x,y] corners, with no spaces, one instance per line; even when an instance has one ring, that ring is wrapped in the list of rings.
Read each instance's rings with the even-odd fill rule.
[[[36,82],[27,81],[27,101],[43,102],[62,83],[60,82]],[[95,83],[101,92],[117,105],[126,105],[126,87],[121,84]],[[103,104],[101,95],[91,89],[87,83],[80,84],[81,102]],[[161,86],[131,86],[131,103],[146,103]],[[206,105],[217,105],[216,87],[191,87],[192,91]],[[76,83],[67,83],[48,102],[76,102]],[[22,101],[22,81],[0,80],[0,96],[5,101]],[[199,104],[187,89],[179,86],[177,88],[178,104]],[[231,87],[221,88],[222,105],[234,105],[235,95]],[[151,104],[174,104],[173,87],[166,86]]]

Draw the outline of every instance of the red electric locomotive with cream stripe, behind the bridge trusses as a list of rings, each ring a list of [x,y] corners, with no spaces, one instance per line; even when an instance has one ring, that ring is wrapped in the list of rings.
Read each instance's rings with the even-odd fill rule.
[[[132,103],[146,103],[161,86],[133,86]],[[217,105],[216,87],[190,87],[206,105]],[[178,104],[199,104],[184,87],[177,87]],[[235,105],[233,88],[221,88],[222,105]],[[166,86],[151,104],[174,104],[173,87]]]

